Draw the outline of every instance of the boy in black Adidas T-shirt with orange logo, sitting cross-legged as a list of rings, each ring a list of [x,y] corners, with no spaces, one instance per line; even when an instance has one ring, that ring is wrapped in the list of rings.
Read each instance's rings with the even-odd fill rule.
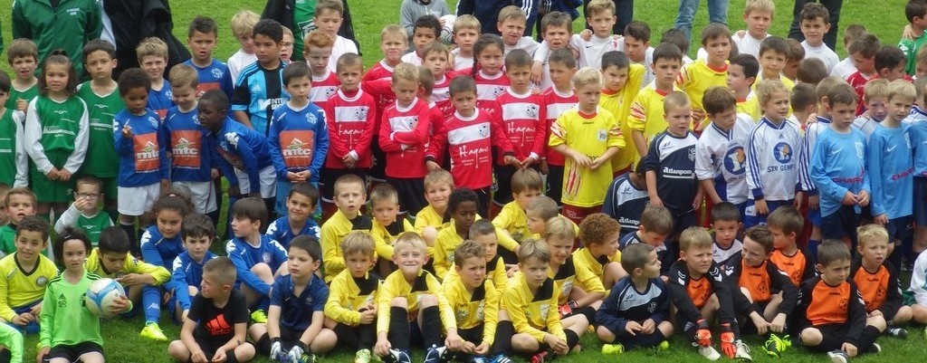
[[[245,342],[248,303],[245,294],[233,287],[235,275],[235,264],[228,257],[213,258],[203,266],[203,282],[184,319],[180,340],[168,345],[175,361],[248,362],[254,357],[254,345]]]

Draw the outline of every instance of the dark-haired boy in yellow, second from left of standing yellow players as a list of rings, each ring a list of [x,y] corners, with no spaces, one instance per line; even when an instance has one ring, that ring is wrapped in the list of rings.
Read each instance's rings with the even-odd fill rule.
[[[602,55],[602,98],[599,100],[599,106],[611,112],[618,121],[621,138],[625,141],[625,147],[612,157],[614,175],[628,171],[637,156],[634,140],[631,139],[628,116],[631,113],[631,103],[641,90],[645,71],[640,64],[631,64],[623,52],[611,51]]]

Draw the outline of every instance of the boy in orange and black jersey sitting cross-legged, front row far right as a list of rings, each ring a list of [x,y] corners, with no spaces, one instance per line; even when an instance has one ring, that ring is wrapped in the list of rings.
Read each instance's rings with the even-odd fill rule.
[[[818,247],[820,276],[802,283],[795,310],[795,331],[808,349],[828,352],[832,362],[845,363],[860,353],[878,353],[876,337],[885,320],[867,322],[866,303],[850,276],[850,250],[840,241]]]

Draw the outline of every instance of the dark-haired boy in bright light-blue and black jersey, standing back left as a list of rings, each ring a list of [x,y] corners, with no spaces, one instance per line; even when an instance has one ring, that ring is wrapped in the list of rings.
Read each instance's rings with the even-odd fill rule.
[[[275,20],[263,19],[255,24],[253,34],[258,61],[238,74],[232,93],[232,111],[238,122],[266,136],[273,110],[283,106],[289,98],[283,87],[286,63],[280,60],[284,31]]]

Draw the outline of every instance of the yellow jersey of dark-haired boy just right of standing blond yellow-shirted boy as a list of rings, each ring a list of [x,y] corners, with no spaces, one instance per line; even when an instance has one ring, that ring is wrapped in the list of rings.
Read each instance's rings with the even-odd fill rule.
[[[641,82],[646,69],[640,64],[631,64],[628,69],[628,81],[625,87],[620,91],[602,90],[602,97],[599,98],[599,106],[612,113],[612,116],[618,121],[621,128],[621,138],[625,141],[625,147],[618,150],[618,154],[612,157],[612,170],[622,170],[630,167],[631,163],[637,158],[637,149],[634,148],[634,140],[631,139],[631,127],[629,115],[631,113],[631,104],[634,97],[641,91]]]

